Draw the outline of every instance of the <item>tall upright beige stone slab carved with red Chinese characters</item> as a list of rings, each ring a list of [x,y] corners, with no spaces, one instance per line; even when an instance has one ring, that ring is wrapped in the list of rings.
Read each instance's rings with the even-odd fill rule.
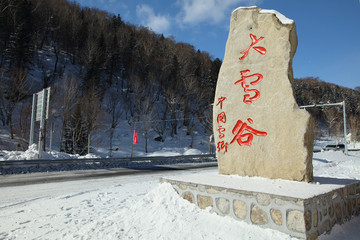
[[[232,13],[213,108],[220,174],[313,180],[313,121],[290,82],[296,47],[295,23],[280,13]]]

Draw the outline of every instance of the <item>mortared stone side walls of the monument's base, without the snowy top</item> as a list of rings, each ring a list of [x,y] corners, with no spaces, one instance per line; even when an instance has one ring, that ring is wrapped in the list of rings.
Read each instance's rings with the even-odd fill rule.
[[[301,239],[316,239],[360,213],[360,182],[310,199],[248,192],[161,179],[201,209],[271,228]]]

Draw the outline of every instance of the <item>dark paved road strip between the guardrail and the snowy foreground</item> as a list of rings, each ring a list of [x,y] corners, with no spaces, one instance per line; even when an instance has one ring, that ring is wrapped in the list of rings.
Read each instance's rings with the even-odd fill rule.
[[[161,166],[151,166],[149,168],[131,169],[131,168],[111,168],[97,170],[77,170],[62,172],[43,172],[28,174],[0,175],[0,187],[22,186],[29,184],[41,184],[50,182],[65,182],[84,179],[96,179],[106,177],[117,177],[126,175],[154,174],[164,172],[168,174],[171,171],[188,170],[196,168],[216,168],[217,163],[192,163],[192,164],[171,164]]]

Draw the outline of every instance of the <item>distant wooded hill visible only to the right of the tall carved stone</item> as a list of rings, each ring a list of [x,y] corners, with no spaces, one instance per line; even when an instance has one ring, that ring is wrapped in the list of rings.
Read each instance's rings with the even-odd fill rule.
[[[295,79],[293,89],[299,106],[339,103],[345,101],[347,132],[352,140],[360,140],[360,87],[356,90],[320,81],[317,78]],[[326,129],[329,136],[343,136],[343,109],[339,107],[316,107],[307,109],[316,119],[315,137]]]

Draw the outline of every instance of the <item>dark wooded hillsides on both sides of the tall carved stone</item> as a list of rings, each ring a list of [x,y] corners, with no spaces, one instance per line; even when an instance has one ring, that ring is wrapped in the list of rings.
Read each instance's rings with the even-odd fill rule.
[[[120,121],[140,128],[146,141],[150,132],[164,141],[179,127],[191,137],[195,130],[211,135],[221,60],[120,15],[66,0],[0,0],[0,54],[0,123],[23,149],[32,94],[49,86],[47,122],[55,124],[61,151],[84,154],[99,131],[112,149]],[[312,78],[296,79],[294,90],[299,105],[345,99],[359,136],[359,91]],[[320,110],[311,112],[335,129],[341,109]]]

